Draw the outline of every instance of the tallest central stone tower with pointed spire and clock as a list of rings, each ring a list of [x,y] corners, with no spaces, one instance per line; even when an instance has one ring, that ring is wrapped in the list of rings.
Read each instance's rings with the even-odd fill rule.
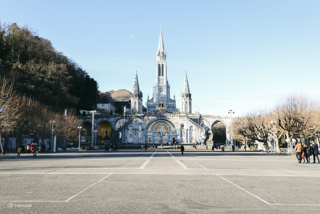
[[[156,51],[156,79],[153,85],[152,98],[147,99],[147,112],[155,111],[160,102],[165,110],[176,111],[176,100],[170,98],[170,85],[167,79],[167,53],[165,51],[162,27],[160,27],[160,39]]]

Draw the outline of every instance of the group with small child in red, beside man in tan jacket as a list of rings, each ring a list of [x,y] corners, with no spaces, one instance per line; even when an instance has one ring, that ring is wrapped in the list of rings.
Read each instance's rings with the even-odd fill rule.
[[[316,158],[318,161],[318,164],[320,164],[319,161],[319,147],[318,144],[316,144],[315,141],[312,142],[312,145],[309,145],[308,143],[302,144],[297,143],[297,145],[294,147],[293,152],[296,152],[296,157],[298,159],[298,163],[301,163],[303,159],[303,163],[310,163],[310,156],[313,155],[313,163],[316,163]]]

